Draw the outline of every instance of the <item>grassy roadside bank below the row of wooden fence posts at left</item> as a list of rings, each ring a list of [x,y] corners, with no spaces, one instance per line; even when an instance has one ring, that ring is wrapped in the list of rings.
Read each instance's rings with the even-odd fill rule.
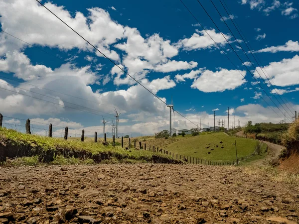
[[[65,141],[58,138],[23,134],[0,128],[0,161],[6,158],[33,157],[39,162],[57,162],[59,159],[82,159],[93,162],[161,162],[176,163],[170,156],[144,150],[126,150],[103,142]]]

